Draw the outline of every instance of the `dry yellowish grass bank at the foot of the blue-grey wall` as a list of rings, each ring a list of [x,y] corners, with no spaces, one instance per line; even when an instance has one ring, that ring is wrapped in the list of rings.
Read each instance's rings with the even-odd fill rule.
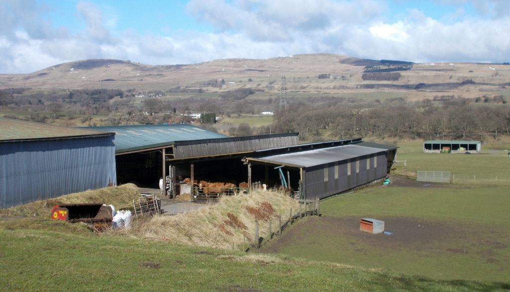
[[[133,183],[126,183],[118,187],[88,190],[53,199],[35,201],[9,209],[0,209],[0,216],[34,216],[47,218],[49,216],[49,211],[57,204],[103,203],[107,205],[112,204],[118,210],[132,207],[133,199],[139,196],[140,192],[138,191],[138,187]]]

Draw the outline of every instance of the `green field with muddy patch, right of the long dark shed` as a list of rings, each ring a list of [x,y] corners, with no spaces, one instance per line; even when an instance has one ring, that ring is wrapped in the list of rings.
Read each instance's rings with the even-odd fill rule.
[[[407,160],[410,170],[508,176],[508,157],[498,153],[415,152],[399,154],[398,160]],[[434,279],[508,283],[508,194],[510,187],[501,181],[429,184],[395,177],[387,188],[366,188],[324,200],[322,218],[299,223],[264,251]],[[386,230],[393,234],[359,231],[364,217],[385,221]]]

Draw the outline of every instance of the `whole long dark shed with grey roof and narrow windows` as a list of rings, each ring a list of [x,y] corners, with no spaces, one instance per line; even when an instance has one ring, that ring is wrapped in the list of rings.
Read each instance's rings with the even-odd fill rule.
[[[301,198],[312,199],[384,178],[389,173],[395,151],[394,146],[356,139],[341,146],[247,157],[246,162],[250,180],[277,185],[283,174],[290,188]]]

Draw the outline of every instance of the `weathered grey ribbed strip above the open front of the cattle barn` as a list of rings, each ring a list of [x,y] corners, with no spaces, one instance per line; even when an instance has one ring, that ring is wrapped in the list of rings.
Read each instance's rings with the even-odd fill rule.
[[[288,147],[298,143],[298,134],[299,133],[286,133],[195,141],[175,141],[173,154],[175,159],[179,159]]]

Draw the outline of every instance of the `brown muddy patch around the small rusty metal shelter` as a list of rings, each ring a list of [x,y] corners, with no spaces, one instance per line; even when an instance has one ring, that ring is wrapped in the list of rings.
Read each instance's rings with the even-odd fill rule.
[[[356,253],[370,254],[376,249],[380,252],[424,251],[434,253],[468,254],[476,253],[485,262],[500,262],[496,254],[510,243],[498,237],[496,230],[488,230],[478,225],[449,221],[427,221],[410,217],[377,218],[385,221],[385,230],[391,234],[371,234],[360,231],[360,217],[310,217],[293,226],[283,236],[269,242],[261,248],[262,252],[279,253],[285,248],[300,242],[307,242],[315,248],[321,247],[321,241],[335,240],[341,236],[347,241],[347,247],[339,243],[337,248],[352,249]],[[330,237],[323,237],[331,234]],[[311,240],[316,237],[317,242]],[[362,244],[360,244],[362,243]],[[503,259],[508,261],[508,259]],[[332,259],[332,261],[335,261]]]

